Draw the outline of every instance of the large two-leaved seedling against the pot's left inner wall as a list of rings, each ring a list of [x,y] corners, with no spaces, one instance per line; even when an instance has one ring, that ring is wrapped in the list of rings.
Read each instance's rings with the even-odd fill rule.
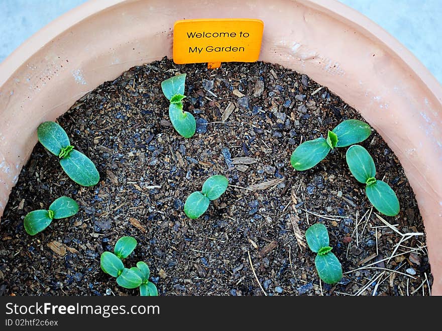
[[[66,132],[55,122],[43,122],[37,129],[38,140],[60,159],[64,172],[82,186],[98,183],[100,175],[93,162],[71,146]]]

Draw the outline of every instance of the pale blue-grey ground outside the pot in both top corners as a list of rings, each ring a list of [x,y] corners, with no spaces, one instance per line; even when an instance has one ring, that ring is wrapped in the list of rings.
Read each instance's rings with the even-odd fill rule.
[[[0,62],[40,28],[85,1],[0,0]],[[442,83],[442,0],[340,1],[396,37]]]

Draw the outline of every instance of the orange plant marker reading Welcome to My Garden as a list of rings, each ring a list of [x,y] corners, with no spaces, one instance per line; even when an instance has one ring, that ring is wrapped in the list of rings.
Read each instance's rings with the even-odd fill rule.
[[[176,21],[173,61],[177,64],[255,62],[259,58],[264,23],[256,19],[197,19]]]

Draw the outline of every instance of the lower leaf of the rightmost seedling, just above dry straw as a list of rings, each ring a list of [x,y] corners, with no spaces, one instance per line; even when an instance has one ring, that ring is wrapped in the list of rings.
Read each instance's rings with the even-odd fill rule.
[[[384,215],[396,216],[399,213],[399,200],[386,182],[377,180],[374,184],[367,185],[365,193],[373,206]]]

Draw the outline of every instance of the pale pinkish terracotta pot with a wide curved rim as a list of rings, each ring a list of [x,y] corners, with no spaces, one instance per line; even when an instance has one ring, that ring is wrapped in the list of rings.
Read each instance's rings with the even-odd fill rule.
[[[264,21],[260,60],[306,73],[354,106],[400,159],[424,219],[432,294],[442,294],[442,87],[399,42],[335,0],[86,3],[0,64],[0,214],[37,126],[134,65],[172,54],[179,19]]]

